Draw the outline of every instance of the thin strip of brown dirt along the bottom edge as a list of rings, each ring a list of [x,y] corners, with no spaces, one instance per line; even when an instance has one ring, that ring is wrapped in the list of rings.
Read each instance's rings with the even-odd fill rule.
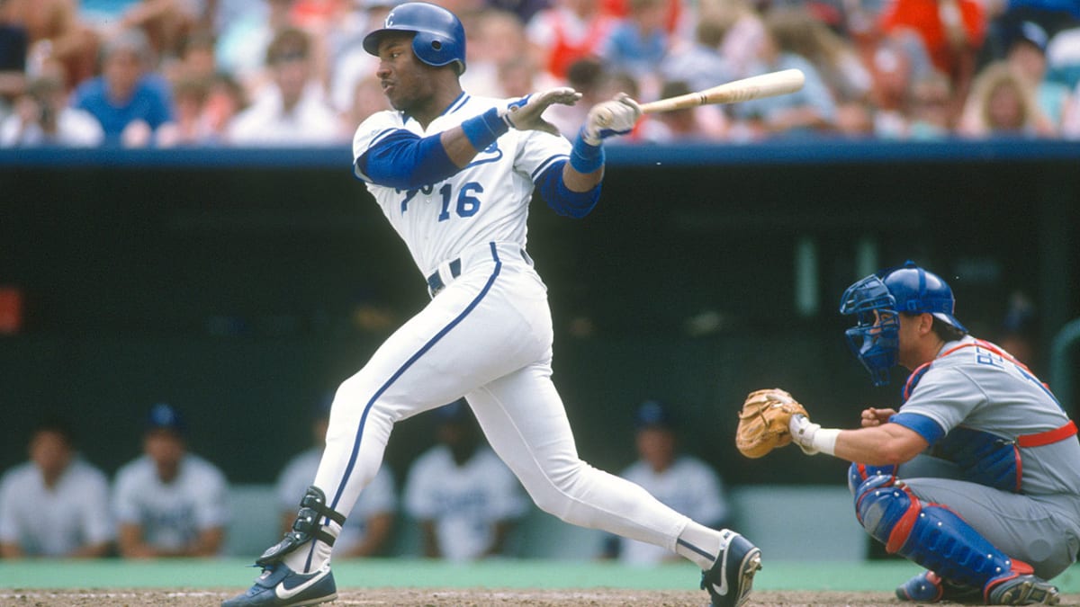
[[[3,607],[168,607],[216,606],[237,591],[215,590],[0,590]],[[465,589],[365,589],[342,590],[330,606],[372,605],[393,607],[702,607],[704,592],[634,590],[465,590]],[[791,607],[795,605],[913,605],[901,603],[887,592],[762,591],[755,592],[750,606]],[[1080,595],[1062,596],[1062,605],[1080,605]]]

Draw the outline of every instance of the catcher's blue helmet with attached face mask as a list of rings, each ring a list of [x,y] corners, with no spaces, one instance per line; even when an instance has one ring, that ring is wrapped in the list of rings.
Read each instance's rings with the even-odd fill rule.
[[[930,313],[968,333],[953,315],[953,289],[937,274],[908,261],[856,282],[843,292],[840,313],[855,314],[858,324],[847,332],[848,345],[870,373],[875,386],[889,383],[900,347],[900,313]],[[876,314],[875,314],[876,312]]]

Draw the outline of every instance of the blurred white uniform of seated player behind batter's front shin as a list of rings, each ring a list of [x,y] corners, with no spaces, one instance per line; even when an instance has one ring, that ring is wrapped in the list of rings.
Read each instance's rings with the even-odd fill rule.
[[[311,480],[319,470],[323,457],[322,447],[311,447],[288,460],[278,475],[278,502],[285,512],[296,510],[298,496],[311,486]],[[397,510],[397,493],[393,473],[386,467],[379,469],[372,483],[364,487],[360,499],[352,509],[352,515],[341,528],[341,535],[334,542],[335,553],[346,553],[354,549],[367,532],[367,520],[376,514],[394,513]]]

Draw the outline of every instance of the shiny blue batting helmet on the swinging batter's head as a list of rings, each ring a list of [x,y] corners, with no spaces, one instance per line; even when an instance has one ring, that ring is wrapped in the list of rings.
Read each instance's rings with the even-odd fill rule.
[[[413,32],[413,52],[423,63],[444,66],[456,63],[458,75],[465,71],[465,28],[454,13],[428,2],[399,4],[381,29],[364,37],[364,50],[379,54],[382,36],[393,31]]]

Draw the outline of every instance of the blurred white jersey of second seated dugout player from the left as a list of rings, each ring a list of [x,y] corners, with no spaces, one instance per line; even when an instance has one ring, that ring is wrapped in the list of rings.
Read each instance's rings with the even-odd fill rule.
[[[201,531],[229,520],[228,482],[213,463],[185,454],[171,483],[141,456],[117,471],[112,508],[119,524],[143,527],[146,543],[164,550],[189,545]]]

